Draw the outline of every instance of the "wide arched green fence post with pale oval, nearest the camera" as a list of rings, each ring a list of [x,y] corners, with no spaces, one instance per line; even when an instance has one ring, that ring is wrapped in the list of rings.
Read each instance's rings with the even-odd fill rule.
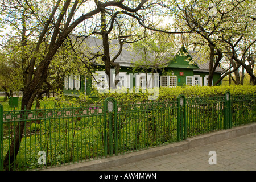
[[[104,154],[117,155],[117,101],[106,98],[104,101]]]

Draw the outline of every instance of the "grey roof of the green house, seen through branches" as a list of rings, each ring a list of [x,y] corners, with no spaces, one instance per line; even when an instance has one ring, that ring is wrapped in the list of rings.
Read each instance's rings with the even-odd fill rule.
[[[88,55],[88,57],[92,57],[97,54],[97,52],[103,53],[103,46],[102,46],[102,39],[94,38],[92,36],[88,38],[80,38],[76,39],[77,43],[79,44],[79,49],[84,53],[84,55]],[[118,40],[109,40],[109,49],[110,49],[110,59],[113,59],[115,55],[117,55],[119,51],[119,41]],[[189,61],[185,61],[186,63],[175,63],[174,60],[177,53],[180,50],[188,53],[188,57],[191,57],[193,61],[189,63]],[[177,48],[169,48],[167,53],[164,53],[164,57],[168,57],[168,59],[158,60],[156,63],[153,54],[147,55],[148,64],[150,63],[155,67],[167,66],[169,68],[188,68],[188,69],[196,69],[199,72],[209,72],[209,61],[201,64],[199,63],[199,53],[196,51],[187,51],[184,46],[180,46]],[[135,61],[142,60],[142,55],[134,51],[131,44],[125,43],[123,44],[122,52],[115,60],[116,63],[119,63],[121,67],[131,67],[135,63]],[[183,61],[184,62],[184,61]],[[192,63],[193,62],[193,63]],[[98,65],[102,65],[100,61],[96,62]],[[142,65],[143,67],[143,65]],[[217,67],[216,72],[224,73],[224,71]]]

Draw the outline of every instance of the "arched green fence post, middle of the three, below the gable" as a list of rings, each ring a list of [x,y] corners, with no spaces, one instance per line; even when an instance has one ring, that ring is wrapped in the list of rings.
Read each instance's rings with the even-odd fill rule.
[[[178,141],[185,140],[187,138],[187,123],[186,123],[186,100],[184,95],[178,97],[178,109],[177,109],[177,139]]]

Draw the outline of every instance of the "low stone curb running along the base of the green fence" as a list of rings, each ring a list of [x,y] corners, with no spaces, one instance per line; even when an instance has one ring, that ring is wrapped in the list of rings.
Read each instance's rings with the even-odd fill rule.
[[[42,169],[42,171],[100,171],[111,167],[122,166],[127,163],[134,163],[144,159],[155,158],[162,155],[167,155],[175,152],[187,150],[221,142],[223,140],[240,137],[241,135],[251,134],[256,132],[256,123],[235,127],[233,129],[215,131],[209,134],[198,135],[187,138],[181,142],[166,144],[164,146],[157,146],[141,151],[130,152],[127,154],[119,154],[118,156],[111,156],[103,159],[90,160],[87,162],[68,164],[60,167],[52,167]]]

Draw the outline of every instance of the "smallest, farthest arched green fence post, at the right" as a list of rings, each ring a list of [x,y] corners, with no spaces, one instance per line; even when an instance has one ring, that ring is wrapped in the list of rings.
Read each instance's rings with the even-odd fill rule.
[[[225,93],[225,110],[224,110],[224,129],[231,129],[232,121],[231,121],[231,98],[230,92]]]

